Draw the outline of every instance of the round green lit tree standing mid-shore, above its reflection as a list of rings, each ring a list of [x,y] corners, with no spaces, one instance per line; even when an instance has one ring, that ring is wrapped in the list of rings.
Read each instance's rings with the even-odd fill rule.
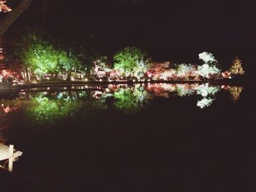
[[[114,55],[114,69],[127,75],[140,76],[140,73],[144,72],[144,66],[140,64],[145,65],[146,62],[146,55],[136,47],[126,47]]]

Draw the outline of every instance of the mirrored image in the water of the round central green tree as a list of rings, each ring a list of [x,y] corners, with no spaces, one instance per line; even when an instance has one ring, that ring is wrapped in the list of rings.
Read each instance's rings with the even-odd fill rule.
[[[148,105],[151,96],[144,88],[135,86],[135,88],[121,88],[114,93],[114,99],[114,105],[118,110],[133,115]]]

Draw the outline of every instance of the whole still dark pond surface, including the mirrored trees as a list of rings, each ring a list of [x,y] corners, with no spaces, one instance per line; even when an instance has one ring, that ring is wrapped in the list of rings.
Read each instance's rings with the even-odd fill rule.
[[[0,97],[1,142],[23,152],[13,174],[30,189],[20,191],[256,191],[252,85],[85,85]]]

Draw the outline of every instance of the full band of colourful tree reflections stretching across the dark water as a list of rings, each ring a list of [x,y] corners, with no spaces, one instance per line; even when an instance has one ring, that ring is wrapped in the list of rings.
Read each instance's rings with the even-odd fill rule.
[[[76,88],[74,88],[76,89]],[[211,106],[219,91],[228,91],[232,101],[238,101],[244,88],[229,85],[206,84],[167,84],[148,83],[135,85],[97,86],[97,91],[46,91],[22,92],[12,99],[1,99],[0,131],[8,126],[12,114],[25,113],[29,123],[37,125],[53,124],[56,121],[89,115],[94,110],[108,110],[112,105],[124,114],[134,115],[148,107],[154,97],[173,98],[194,96],[200,98],[197,107],[201,109]],[[107,102],[107,99],[108,102]],[[110,101],[110,102],[109,102]],[[8,120],[9,119],[9,120]],[[0,142],[1,139],[0,133]]]

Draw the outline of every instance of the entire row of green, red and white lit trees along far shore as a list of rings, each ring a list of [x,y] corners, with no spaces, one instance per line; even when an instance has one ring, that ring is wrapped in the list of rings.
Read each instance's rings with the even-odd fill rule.
[[[151,61],[138,47],[125,47],[111,59],[80,45],[61,46],[48,34],[29,33],[15,42],[15,55],[2,67],[0,81],[23,80],[218,80],[244,74],[235,58],[223,71],[211,53],[200,53],[200,64],[173,64]],[[112,61],[112,62],[111,62]],[[8,65],[9,63],[9,65]]]

